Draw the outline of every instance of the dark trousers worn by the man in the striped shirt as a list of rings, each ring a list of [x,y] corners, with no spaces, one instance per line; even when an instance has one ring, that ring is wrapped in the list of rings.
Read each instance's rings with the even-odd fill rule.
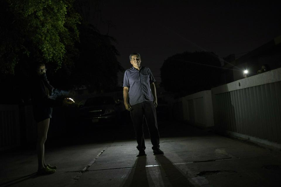
[[[136,105],[132,105],[131,118],[134,124],[136,138],[137,138],[137,149],[145,150],[144,136],[143,136],[143,119],[146,120],[150,140],[153,145],[153,150],[159,149],[159,132],[157,127],[156,110],[152,101],[144,101]]]

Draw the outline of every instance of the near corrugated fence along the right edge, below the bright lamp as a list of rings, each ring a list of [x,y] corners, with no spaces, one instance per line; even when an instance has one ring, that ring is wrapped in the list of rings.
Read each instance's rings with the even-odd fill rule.
[[[281,69],[275,71],[280,73]],[[212,89],[216,129],[281,143],[281,82],[276,81],[281,76],[276,77],[276,72],[266,73],[222,86],[222,93]],[[245,86],[237,89],[240,83]]]

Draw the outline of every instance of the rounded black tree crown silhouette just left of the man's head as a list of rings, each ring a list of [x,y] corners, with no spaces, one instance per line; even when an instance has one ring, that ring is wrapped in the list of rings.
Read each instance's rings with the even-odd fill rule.
[[[75,64],[76,85],[86,85],[90,91],[112,91],[116,88],[117,73],[123,71],[117,61],[119,52],[112,45],[115,40],[103,35],[91,24],[80,25],[80,57]]]

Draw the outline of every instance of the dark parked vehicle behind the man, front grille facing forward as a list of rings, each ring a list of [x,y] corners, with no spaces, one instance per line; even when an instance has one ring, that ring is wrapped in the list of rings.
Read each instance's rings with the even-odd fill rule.
[[[114,122],[118,107],[113,97],[100,96],[88,98],[80,108],[80,119],[87,123]]]

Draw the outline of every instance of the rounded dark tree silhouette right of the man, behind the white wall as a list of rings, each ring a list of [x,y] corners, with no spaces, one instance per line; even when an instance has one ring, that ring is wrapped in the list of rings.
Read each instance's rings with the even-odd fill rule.
[[[184,96],[217,86],[220,68],[206,65],[221,66],[213,52],[184,52],[167,58],[161,67],[164,89]]]

